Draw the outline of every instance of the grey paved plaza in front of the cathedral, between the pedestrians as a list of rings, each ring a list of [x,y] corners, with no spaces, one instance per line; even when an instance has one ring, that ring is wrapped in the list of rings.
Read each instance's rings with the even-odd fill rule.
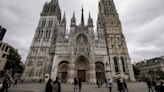
[[[148,92],[146,83],[128,83],[129,92]],[[45,84],[42,83],[25,83],[19,84],[17,87],[11,86],[9,92],[44,92]],[[62,84],[62,92],[74,92],[73,85]],[[96,85],[82,85],[81,92],[109,92],[105,85],[101,88],[97,88]],[[116,83],[114,83],[113,92],[117,91]]]

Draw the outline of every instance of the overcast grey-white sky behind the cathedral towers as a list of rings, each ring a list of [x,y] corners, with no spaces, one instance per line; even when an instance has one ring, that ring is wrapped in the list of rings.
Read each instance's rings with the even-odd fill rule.
[[[25,62],[43,5],[49,0],[0,0],[0,25],[7,29],[4,41],[19,50]],[[59,0],[67,22],[73,11],[79,23],[97,19],[99,0]],[[132,62],[164,55],[164,0],[114,0]],[[85,20],[86,22],[86,20]],[[67,23],[68,24],[68,23]]]

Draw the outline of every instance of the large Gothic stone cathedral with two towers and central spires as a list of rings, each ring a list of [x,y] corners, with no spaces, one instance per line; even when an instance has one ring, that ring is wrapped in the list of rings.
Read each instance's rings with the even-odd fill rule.
[[[28,52],[23,79],[39,80],[58,76],[61,82],[73,83],[118,77],[135,81],[125,37],[113,0],[100,0],[97,25],[91,14],[85,24],[76,23],[73,12],[67,29],[65,14],[61,17],[58,0],[46,2]],[[96,29],[96,30],[95,30]]]

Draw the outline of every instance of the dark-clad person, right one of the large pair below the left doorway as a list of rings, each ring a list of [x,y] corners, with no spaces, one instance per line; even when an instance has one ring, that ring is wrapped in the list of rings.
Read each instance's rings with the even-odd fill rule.
[[[58,77],[56,77],[56,80],[53,82],[52,92],[61,92],[61,86]]]

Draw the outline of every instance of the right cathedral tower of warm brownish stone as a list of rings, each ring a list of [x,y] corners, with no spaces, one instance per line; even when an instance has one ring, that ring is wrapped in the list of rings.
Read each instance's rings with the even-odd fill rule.
[[[102,21],[99,25],[102,25],[105,34],[111,75],[129,77],[134,81],[131,60],[113,0],[100,0],[99,17]]]

